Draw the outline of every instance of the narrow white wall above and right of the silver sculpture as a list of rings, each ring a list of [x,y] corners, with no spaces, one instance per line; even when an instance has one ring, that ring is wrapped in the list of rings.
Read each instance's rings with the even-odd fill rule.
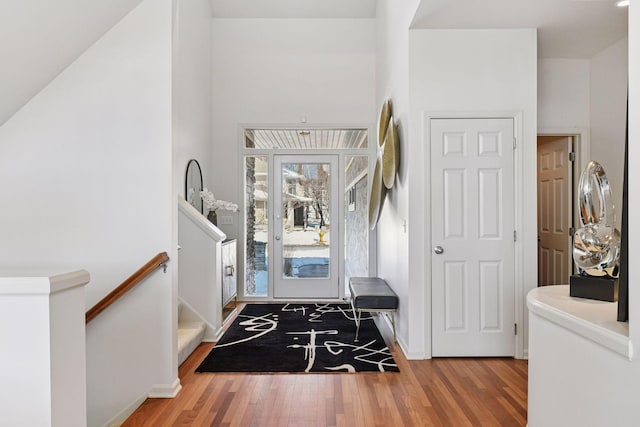
[[[625,38],[591,58],[591,160],[599,162],[607,172],[618,229],[622,213],[627,48]]]

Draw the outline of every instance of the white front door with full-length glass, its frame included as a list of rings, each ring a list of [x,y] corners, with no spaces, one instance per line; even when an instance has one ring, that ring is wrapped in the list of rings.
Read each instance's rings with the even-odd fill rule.
[[[338,157],[274,158],[274,298],[339,298]]]

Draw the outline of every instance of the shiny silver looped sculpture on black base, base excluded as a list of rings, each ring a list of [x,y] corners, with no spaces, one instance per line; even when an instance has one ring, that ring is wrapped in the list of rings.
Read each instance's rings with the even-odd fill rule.
[[[591,161],[578,187],[580,223],[573,236],[573,260],[582,276],[618,277],[620,232],[607,174]]]

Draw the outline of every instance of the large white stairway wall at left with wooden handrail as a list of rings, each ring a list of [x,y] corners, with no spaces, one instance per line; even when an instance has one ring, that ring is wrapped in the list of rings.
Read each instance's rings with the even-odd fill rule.
[[[0,146],[3,267],[84,268],[88,308],[173,256],[171,1],[116,24],[0,127]],[[87,326],[88,425],[172,390],[174,298],[156,272]]]

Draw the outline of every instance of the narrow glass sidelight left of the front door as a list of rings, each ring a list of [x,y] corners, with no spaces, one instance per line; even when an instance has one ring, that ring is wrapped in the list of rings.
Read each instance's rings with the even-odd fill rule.
[[[267,296],[269,289],[269,205],[266,156],[245,158],[244,295]]]

